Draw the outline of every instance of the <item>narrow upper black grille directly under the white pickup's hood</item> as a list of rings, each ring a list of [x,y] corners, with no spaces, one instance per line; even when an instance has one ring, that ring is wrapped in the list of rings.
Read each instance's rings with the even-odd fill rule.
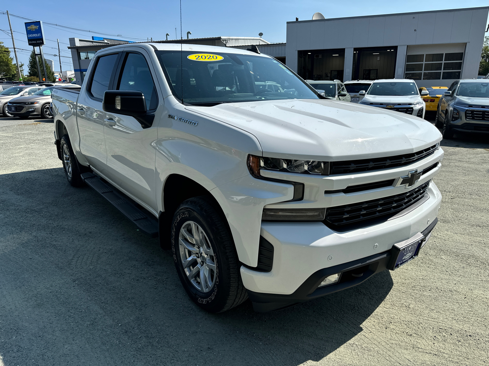
[[[364,172],[367,170],[387,169],[396,166],[408,165],[426,158],[438,149],[438,144],[427,147],[415,153],[389,156],[386,158],[346,160],[330,163],[330,174],[345,174]]]

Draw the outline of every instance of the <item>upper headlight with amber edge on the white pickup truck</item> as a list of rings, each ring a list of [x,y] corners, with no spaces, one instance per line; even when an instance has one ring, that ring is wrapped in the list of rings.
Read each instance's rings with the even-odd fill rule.
[[[248,156],[248,169],[255,178],[261,178],[260,169],[288,173],[329,175],[330,163],[317,160],[294,160]]]

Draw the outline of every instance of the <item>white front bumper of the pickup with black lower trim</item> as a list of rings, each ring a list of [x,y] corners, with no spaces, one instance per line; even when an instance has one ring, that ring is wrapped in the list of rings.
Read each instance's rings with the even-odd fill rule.
[[[434,183],[430,183],[427,193],[426,201],[401,217],[347,232],[333,231],[321,222],[262,222],[261,236],[274,247],[273,265],[270,272],[241,267],[249,297],[257,304],[275,303],[257,305],[263,309],[259,311],[269,311],[274,306],[289,306],[363,282],[339,283],[316,292],[318,283],[314,281],[319,274],[350,270],[352,265],[364,266],[366,262],[371,271],[368,277],[385,269],[386,252],[394,244],[424,232],[435,222],[442,196]],[[370,267],[371,264],[376,267]],[[298,294],[307,296],[298,297]]]

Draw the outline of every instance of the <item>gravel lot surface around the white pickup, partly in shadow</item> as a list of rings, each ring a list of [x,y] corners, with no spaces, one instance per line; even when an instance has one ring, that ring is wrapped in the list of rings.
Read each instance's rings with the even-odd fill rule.
[[[49,120],[0,118],[0,366],[489,365],[489,135],[442,145],[417,260],[286,310],[212,315],[156,239],[67,184]]]

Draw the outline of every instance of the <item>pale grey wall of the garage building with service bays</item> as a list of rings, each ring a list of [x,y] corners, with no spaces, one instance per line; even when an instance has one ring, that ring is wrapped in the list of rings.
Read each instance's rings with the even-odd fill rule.
[[[477,78],[489,7],[287,22],[287,65],[297,51],[398,46],[396,78],[403,77],[408,45],[467,43],[462,78]],[[345,74],[347,69],[345,54]],[[402,74],[398,71],[402,68]],[[346,75],[345,75],[346,76]],[[345,78],[346,80],[346,78]],[[450,84],[451,81],[440,80]],[[432,81],[430,81],[432,83]]]

